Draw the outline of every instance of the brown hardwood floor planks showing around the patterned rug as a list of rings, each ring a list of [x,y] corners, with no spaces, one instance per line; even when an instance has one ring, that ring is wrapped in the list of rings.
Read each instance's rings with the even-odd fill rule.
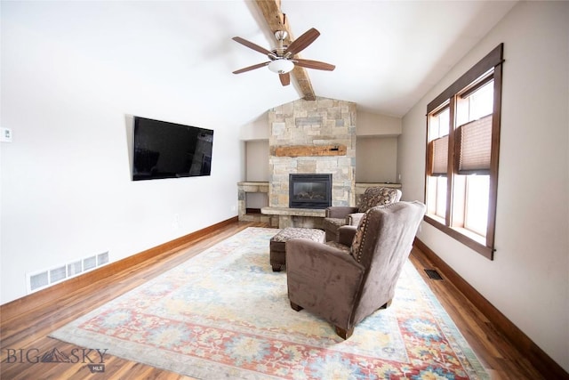
[[[263,226],[254,222],[233,222],[219,230],[204,235],[182,247],[164,252],[162,255],[132,268],[118,271],[106,279],[81,288],[68,289],[55,303],[26,311],[14,318],[4,319],[0,315],[0,347],[2,379],[190,379],[188,376],[152,368],[137,362],[104,356],[104,372],[96,372],[97,352],[81,352],[76,345],[65,344],[48,335],[84,313],[107,303],[118,295],[148,281],[188,258],[199,254],[207,247],[227,239],[250,226]],[[501,336],[492,323],[477,310],[477,307],[461,294],[446,279],[429,279],[423,269],[434,268],[427,256],[413,248],[411,261],[421,276],[437,295],[445,310],[453,318],[461,333],[468,340],[477,357],[495,379],[541,379],[544,378],[525,359],[513,344]],[[0,309],[1,311],[1,309]],[[76,363],[41,363],[38,353],[52,349],[60,352],[76,352]],[[88,365],[91,364],[92,368]]]

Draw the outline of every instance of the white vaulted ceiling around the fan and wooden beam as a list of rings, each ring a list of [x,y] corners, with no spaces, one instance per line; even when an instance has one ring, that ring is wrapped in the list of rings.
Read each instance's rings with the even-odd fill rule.
[[[332,63],[336,68],[305,70],[316,96],[353,101],[358,109],[402,117],[514,4],[364,0],[281,0],[280,4],[279,0],[3,2],[3,23],[13,23],[14,28],[25,30],[26,36],[35,36],[29,40],[33,43],[17,47],[14,44],[19,44],[18,40],[3,35],[3,44],[6,52],[22,54],[25,67],[36,60],[37,66],[30,67],[28,75],[38,76],[38,81],[66,85],[58,76],[59,70],[84,75],[85,79],[116,74],[121,84],[140,86],[148,97],[171,105],[167,115],[137,109],[136,105],[125,108],[126,113],[238,127],[306,93],[306,86],[298,84],[298,73],[287,86],[266,67],[232,73],[268,61],[267,56],[232,38],[240,36],[268,50],[276,47],[276,26],[269,26],[267,14],[262,12],[263,7],[272,7],[269,14],[284,13],[294,37],[310,28],[320,32],[301,56]],[[114,91],[120,87],[115,86]],[[192,112],[192,119],[188,113],[180,113],[177,102],[187,107],[184,111]]]

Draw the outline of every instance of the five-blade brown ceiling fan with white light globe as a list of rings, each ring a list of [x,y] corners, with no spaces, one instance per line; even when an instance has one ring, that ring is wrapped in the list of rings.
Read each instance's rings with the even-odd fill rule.
[[[302,60],[300,58],[294,58],[294,56],[298,53],[301,53],[302,50],[306,49],[309,44],[312,44],[314,40],[320,36],[320,32],[317,31],[315,28],[309,29],[309,31],[305,32],[302,36],[295,39],[290,45],[285,46],[284,40],[288,36],[284,30],[278,30],[275,32],[275,38],[278,41],[278,47],[273,50],[267,50],[263,47],[260,47],[258,44],[253,44],[246,39],[241,37],[233,37],[233,40],[238,42],[239,44],[244,44],[248,48],[252,50],[266,54],[270,61],[258,63],[256,65],[252,65],[246,67],[244,69],[238,69],[233,71],[233,74],[241,74],[245,71],[250,71],[254,69],[260,69],[265,66],[268,66],[268,69],[277,73],[278,77],[281,80],[282,85],[290,85],[291,84],[291,75],[290,71],[294,69],[294,66],[301,66],[302,68],[308,69],[317,69],[317,70],[326,70],[332,71],[336,67],[331,65],[330,63],[320,62],[320,61],[311,61],[311,60]]]

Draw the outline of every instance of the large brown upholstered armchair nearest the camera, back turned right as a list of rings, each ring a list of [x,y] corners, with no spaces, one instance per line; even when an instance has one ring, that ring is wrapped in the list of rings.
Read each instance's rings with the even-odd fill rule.
[[[421,202],[375,206],[357,227],[342,226],[339,242],[287,241],[291,307],[326,319],[348,339],[357,323],[391,303],[425,208]]]

